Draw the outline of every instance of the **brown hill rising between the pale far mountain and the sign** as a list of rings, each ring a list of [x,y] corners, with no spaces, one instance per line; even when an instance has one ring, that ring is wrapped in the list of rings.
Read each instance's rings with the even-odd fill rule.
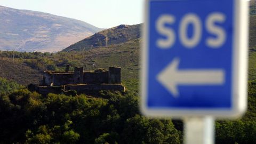
[[[73,45],[70,45],[62,51],[82,51],[95,47],[108,46],[112,44],[121,44],[140,37],[139,25],[120,25],[114,28],[105,29],[90,37],[83,39]]]

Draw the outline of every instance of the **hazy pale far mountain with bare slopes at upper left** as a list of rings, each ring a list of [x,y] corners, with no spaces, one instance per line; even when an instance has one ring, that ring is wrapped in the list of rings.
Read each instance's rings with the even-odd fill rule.
[[[56,52],[100,30],[75,19],[0,6],[0,50]]]

